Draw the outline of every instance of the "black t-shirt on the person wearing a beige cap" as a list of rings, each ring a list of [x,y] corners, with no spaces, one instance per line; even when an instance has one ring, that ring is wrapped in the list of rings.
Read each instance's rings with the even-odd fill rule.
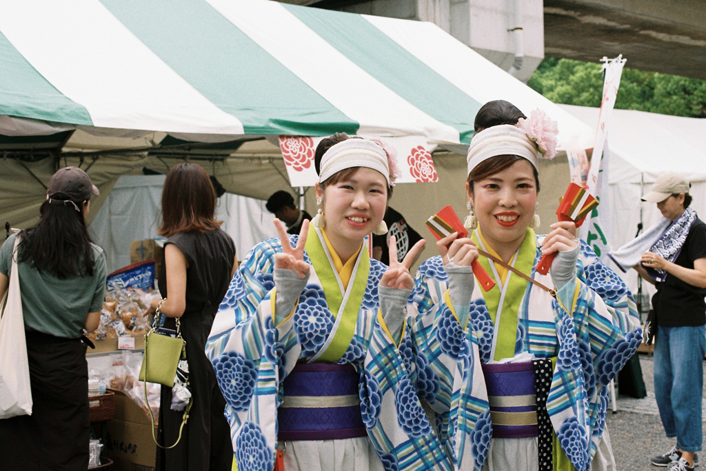
[[[706,258],[706,224],[697,218],[674,263],[693,270],[694,261],[699,258]],[[666,327],[703,326],[706,324],[704,297],[706,288],[689,285],[667,274],[664,282],[657,283],[657,293],[652,297],[657,324]]]

